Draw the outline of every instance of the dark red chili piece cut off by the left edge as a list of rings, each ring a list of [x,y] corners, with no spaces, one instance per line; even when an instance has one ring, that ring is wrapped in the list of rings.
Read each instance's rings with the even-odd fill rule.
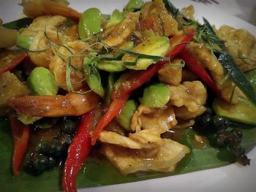
[[[0,53],[0,74],[14,69],[15,66],[18,66],[26,58],[26,55],[24,52],[13,52],[10,50]]]

